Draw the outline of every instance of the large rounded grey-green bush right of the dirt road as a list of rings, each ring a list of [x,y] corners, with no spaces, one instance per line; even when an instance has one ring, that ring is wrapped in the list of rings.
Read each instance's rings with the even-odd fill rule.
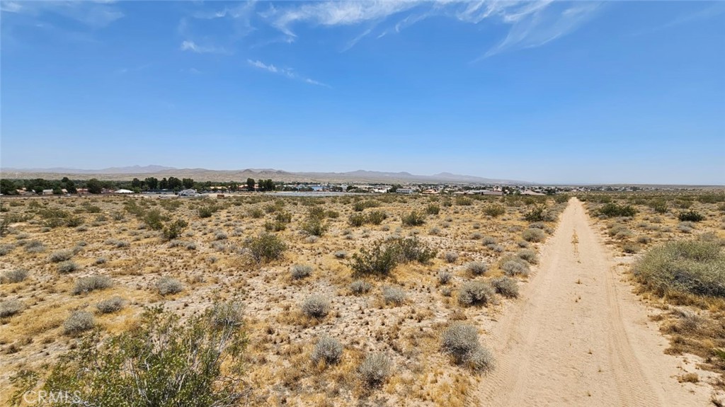
[[[725,254],[717,243],[680,240],[656,246],[634,263],[632,272],[658,295],[725,297]]]

